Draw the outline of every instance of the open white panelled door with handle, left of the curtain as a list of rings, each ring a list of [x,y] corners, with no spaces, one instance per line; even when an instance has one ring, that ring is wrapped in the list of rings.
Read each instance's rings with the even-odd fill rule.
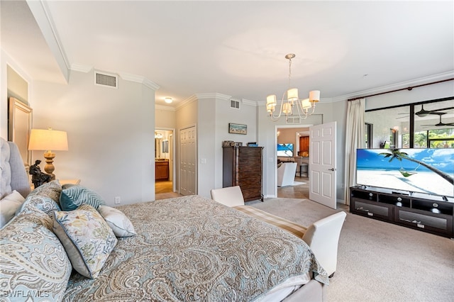
[[[309,199],[336,208],[336,122],[309,128]]]

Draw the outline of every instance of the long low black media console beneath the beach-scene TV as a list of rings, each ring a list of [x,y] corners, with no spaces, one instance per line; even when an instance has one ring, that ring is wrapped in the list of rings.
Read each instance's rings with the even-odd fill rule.
[[[374,186],[350,187],[350,213],[453,238],[454,198]]]

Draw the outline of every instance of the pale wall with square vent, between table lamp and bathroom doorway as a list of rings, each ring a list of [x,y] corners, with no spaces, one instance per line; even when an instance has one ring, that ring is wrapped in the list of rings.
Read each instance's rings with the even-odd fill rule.
[[[81,179],[109,205],[155,195],[155,93],[118,79],[118,89],[94,85],[93,72],[72,72],[67,85],[34,82],[33,128],[65,130],[68,151],[56,151],[55,175]],[[33,159],[42,159],[40,151]]]

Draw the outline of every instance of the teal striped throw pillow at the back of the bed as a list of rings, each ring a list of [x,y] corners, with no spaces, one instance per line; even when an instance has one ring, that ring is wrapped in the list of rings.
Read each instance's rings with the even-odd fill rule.
[[[99,206],[105,206],[104,199],[95,191],[85,188],[84,186],[70,186],[63,189],[60,194],[60,206],[63,211],[75,210],[82,203],[98,209]]]

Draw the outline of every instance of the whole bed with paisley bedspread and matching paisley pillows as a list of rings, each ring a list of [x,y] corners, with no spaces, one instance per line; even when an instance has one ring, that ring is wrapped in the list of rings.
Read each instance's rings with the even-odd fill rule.
[[[134,234],[107,240],[96,276],[84,276],[55,220],[96,205],[62,211],[64,191],[52,181],[23,196],[1,229],[0,301],[304,301],[328,284],[303,240],[201,196],[117,207]]]

